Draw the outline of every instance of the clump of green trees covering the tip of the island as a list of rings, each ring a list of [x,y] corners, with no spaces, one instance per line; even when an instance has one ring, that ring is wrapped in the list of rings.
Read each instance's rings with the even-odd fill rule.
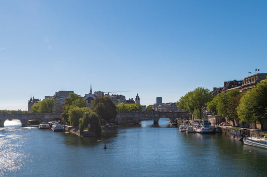
[[[85,100],[80,95],[71,93],[65,98],[63,120],[80,130],[80,134],[84,130],[89,130],[97,135],[101,135],[101,123],[115,119],[117,115],[116,105],[109,97],[97,97],[91,109],[85,107]]]

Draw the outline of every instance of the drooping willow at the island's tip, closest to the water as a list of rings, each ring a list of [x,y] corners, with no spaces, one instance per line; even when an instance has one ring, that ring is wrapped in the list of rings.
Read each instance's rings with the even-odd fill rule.
[[[98,136],[101,136],[102,134],[102,127],[100,124],[100,117],[92,110],[89,110],[85,112],[82,119],[79,121],[79,130],[80,134],[83,133],[85,129],[89,130],[88,124],[90,124],[90,129],[92,132],[95,132]]]

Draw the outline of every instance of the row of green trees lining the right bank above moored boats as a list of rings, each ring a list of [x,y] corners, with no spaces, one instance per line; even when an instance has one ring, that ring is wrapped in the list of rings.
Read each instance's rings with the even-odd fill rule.
[[[232,89],[215,97],[208,89],[196,88],[181,97],[176,105],[179,110],[189,111],[198,119],[202,119],[203,110],[207,108],[226,117],[234,126],[235,122],[259,122],[263,128],[267,120],[267,80],[244,92]]]

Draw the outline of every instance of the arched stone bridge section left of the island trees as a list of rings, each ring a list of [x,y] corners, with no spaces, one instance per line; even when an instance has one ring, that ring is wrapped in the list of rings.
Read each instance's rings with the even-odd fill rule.
[[[61,114],[0,114],[0,127],[4,127],[6,120],[13,119],[19,119],[22,127],[26,127],[29,120],[41,120],[42,122],[62,120]]]

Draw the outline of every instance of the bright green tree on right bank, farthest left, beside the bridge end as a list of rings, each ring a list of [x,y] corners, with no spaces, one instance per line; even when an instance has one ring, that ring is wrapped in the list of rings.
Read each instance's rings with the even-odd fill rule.
[[[177,101],[176,105],[179,110],[189,111],[197,119],[202,119],[203,108],[212,100],[210,91],[205,88],[198,87],[194,91],[188,92],[185,96]]]

